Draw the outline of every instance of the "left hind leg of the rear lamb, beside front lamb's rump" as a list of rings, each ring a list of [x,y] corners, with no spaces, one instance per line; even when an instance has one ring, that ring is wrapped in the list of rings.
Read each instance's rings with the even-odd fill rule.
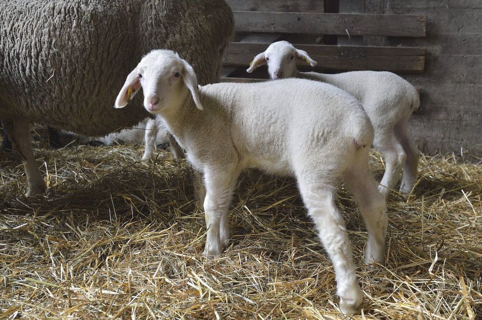
[[[385,173],[381,179],[379,191],[385,198],[388,198],[390,190],[393,189],[399,179],[407,156],[393,132],[376,133],[374,145],[385,158]]]

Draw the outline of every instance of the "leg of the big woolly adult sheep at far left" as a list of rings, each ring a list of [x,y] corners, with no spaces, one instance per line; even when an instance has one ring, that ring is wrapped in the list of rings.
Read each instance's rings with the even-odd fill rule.
[[[27,119],[7,120],[4,123],[8,137],[13,143],[13,147],[22,157],[27,175],[28,190],[26,196],[41,194],[45,192],[47,186],[35,163],[34,151],[32,149],[32,133],[30,132],[30,122]]]

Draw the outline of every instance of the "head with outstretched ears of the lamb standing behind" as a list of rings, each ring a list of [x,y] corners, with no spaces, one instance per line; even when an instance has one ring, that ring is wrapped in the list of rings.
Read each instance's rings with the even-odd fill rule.
[[[249,65],[247,72],[253,72],[257,66],[268,64],[270,79],[283,79],[296,76],[296,62],[305,61],[316,65],[306,51],[296,49],[288,41],[277,41],[270,44],[265,52],[257,55]]]

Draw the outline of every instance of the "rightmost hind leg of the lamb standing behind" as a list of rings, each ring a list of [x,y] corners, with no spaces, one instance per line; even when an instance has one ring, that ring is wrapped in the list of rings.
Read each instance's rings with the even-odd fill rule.
[[[407,160],[403,166],[402,184],[400,192],[410,193],[417,182],[418,157],[420,152],[407,130],[407,123],[401,125],[397,131],[397,138],[407,154]]]

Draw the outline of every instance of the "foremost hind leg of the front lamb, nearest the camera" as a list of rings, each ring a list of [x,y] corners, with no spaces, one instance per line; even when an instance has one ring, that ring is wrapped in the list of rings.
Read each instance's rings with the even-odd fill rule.
[[[314,175],[314,172],[312,173]],[[344,314],[358,313],[363,303],[363,292],[357,284],[351,244],[342,215],[334,203],[335,187],[322,179],[298,176],[298,184],[308,214],[318,230],[318,237],[330,257],[337,280],[340,309]]]

